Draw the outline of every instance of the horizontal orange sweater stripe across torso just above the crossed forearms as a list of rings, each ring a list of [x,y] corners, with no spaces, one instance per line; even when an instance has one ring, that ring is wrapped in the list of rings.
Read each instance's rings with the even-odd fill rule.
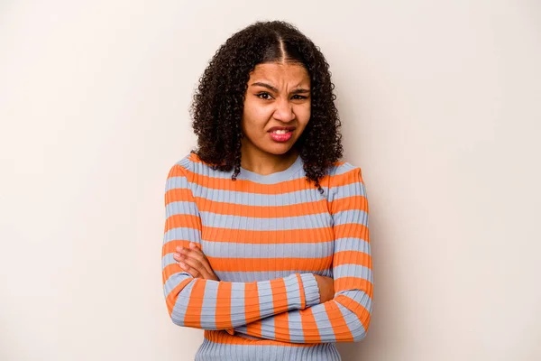
[[[218,272],[265,272],[288,270],[324,271],[331,267],[333,256],[319,258],[222,258],[206,256]]]

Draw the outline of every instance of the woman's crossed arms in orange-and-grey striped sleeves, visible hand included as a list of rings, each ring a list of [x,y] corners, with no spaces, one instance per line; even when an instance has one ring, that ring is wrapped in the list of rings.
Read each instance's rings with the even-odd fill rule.
[[[364,338],[371,317],[372,274],[360,168],[344,163],[331,181],[335,254],[330,282],[312,273],[262,282],[218,281],[197,247],[201,224],[187,174],[179,164],[173,166],[165,194],[162,274],[174,323],[293,343]]]

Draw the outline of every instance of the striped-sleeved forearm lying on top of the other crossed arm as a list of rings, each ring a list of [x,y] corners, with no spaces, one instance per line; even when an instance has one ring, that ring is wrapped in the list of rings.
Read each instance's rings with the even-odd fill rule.
[[[177,265],[178,266],[178,265]],[[174,270],[171,264],[169,270]],[[197,329],[229,329],[319,302],[314,275],[294,273],[261,282],[224,282],[167,276],[164,292],[172,321]],[[173,271],[174,272],[174,271]]]

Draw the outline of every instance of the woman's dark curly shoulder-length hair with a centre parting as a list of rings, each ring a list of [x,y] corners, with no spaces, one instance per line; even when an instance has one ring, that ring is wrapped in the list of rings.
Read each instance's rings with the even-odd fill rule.
[[[241,171],[241,119],[250,73],[256,65],[278,60],[302,64],[311,82],[310,119],[293,145],[304,162],[308,181],[319,180],[343,155],[335,85],[319,48],[290,23],[256,22],[234,33],[209,61],[190,106],[197,134],[196,153],[213,170]]]

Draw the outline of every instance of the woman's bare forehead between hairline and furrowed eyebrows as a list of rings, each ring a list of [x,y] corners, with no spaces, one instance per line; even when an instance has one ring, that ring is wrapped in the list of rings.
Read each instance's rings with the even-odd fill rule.
[[[298,63],[289,62],[271,62],[256,65],[250,73],[250,80],[263,79],[275,83],[310,83],[307,69]]]

